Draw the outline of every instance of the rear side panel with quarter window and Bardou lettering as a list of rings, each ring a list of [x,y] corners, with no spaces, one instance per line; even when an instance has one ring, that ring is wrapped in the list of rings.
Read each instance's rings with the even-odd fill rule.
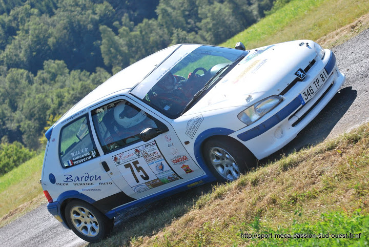
[[[55,156],[59,156],[60,164],[56,168],[48,166],[53,169],[49,177],[58,194],[78,191],[97,201],[119,192],[100,165],[100,154],[91,135],[87,114],[71,120],[61,129],[55,128],[53,132],[59,134],[51,140],[51,145],[59,143],[58,153],[47,162],[54,164]],[[57,139],[59,142],[55,141]],[[51,150],[57,151],[55,148]]]

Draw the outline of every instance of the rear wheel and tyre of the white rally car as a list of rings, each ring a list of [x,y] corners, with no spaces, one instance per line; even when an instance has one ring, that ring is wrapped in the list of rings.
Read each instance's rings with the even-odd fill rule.
[[[65,217],[78,237],[92,243],[104,239],[114,227],[114,219],[109,219],[93,205],[81,200],[72,200],[67,204]]]

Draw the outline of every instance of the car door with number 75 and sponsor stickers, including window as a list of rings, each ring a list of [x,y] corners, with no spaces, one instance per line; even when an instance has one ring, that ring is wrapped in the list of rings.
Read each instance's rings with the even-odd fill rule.
[[[128,97],[91,108],[101,165],[126,195],[138,199],[200,177],[203,171],[182,146],[172,126]],[[158,134],[147,142],[140,133]]]

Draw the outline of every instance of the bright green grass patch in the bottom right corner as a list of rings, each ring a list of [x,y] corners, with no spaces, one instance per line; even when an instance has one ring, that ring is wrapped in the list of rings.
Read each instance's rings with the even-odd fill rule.
[[[251,232],[273,236],[281,234],[284,237],[251,240],[258,246],[366,246],[369,242],[369,215],[360,214],[360,211],[357,210],[353,215],[342,212],[326,213],[320,216],[318,222],[294,221],[290,227],[277,230],[263,227],[260,219],[256,217],[250,224]],[[301,216],[301,213],[298,216]]]

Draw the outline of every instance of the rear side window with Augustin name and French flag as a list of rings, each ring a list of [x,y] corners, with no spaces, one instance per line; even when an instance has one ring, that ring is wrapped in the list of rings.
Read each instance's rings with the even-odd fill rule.
[[[60,132],[59,157],[63,167],[71,167],[99,156],[91,137],[87,115],[80,117]]]

